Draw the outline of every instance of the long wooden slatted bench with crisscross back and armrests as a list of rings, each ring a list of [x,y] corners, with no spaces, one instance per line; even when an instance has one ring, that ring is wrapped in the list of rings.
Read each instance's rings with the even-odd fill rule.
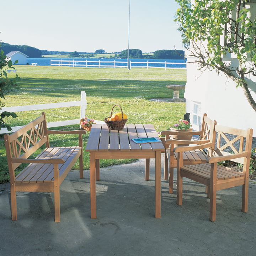
[[[78,134],[79,146],[50,146],[48,134]],[[28,123],[12,134],[5,134],[5,149],[10,173],[11,215],[17,220],[16,191],[53,192],[55,222],[60,222],[60,184],[79,159],[80,178],[83,178],[82,134],[85,130],[48,130],[46,115]],[[34,159],[29,157],[39,148],[45,149]],[[15,169],[28,163],[20,174]]]

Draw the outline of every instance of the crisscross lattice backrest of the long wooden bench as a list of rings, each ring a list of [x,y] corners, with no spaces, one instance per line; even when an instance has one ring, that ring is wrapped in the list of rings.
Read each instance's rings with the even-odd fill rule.
[[[5,149],[9,169],[15,170],[21,163],[12,163],[11,158],[28,158],[42,145],[49,147],[46,116],[34,119],[12,134],[5,134]],[[9,170],[10,171],[10,170]]]

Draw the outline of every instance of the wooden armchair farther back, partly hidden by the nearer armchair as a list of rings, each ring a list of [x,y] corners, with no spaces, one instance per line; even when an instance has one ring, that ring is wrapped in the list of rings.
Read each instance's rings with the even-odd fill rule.
[[[198,140],[176,140],[172,139],[172,135],[179,134],[180,132],[172,130],[164,130],[160,134],[165,135],[165,162],[164,162],[164,178],[168,180],[168,166],[169,166],[169,193],[173,193],[174,183],[174,168],[177,168],[177,153],[174,153],[176,144],[190,146],[183,146],[183,165],[194,165],[206,162],[208,154],[205,152],[208,148],[213,148],[215,143],[214,127],[216,121],[212,121],[203,114],[202,128],[200,131],[195,132],[182,132],[184,134],[198,135]]]

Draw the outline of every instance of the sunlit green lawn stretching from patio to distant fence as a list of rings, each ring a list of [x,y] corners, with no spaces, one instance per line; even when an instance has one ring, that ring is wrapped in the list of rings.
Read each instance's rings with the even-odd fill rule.
[[[86,116],[104,120],[110,116],[114,104],[121,105],[128,116],[127,123],[152,123],[157,131],[169,129],[178,119],[183,118],[185,103],[154,102],[151,98],[172,98],[168,84],[185,84],[185,70],[132,69],[125,68],[73,68],[58,66],[17,65],[21,77],[20,89],[6,96],[6,106],[21,106],[49,102],[80,100],[80,92],[86,92]],[[9,77],[13,73],[8,74]],[[180,92],[183,97],[184,91]],[[57,108],[52,110],[17,112],[15,119],[6,119],[11,126],[24,125],[41,112],[46,112],[47,121],[77,119],[80,107]],[[117,111],[119,112],[118,108]],[[51,128],[52,129],[52,128]],[[76,126],[58,129],[79,129]],[[4,141],[0,135],[0,183],[9,181]],[[84,136],[84,146],[89,133]],[[74,137],[52,135],[52,145],[76,145]],[[131,160],[102,160],[102,166],[126,163]],[[20,169],[23,169],[21,166]],[[78,169],[76,163],[74,169]],[[84,169],[89,169],[89,154],[84,152]]]

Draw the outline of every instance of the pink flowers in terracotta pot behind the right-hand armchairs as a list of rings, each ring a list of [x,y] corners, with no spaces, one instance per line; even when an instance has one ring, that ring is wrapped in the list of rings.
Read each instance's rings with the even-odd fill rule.
[[[191,140],[192,136],[191,134],[186,134],[186,132],[192,132],[191,124],[187,120],[180,119],[178,123],[173,124],[170,127],[171,130],[175,132],[181,132],[180,134],[174,134],[172,135],[172,139],[178,139],[178,140]],[[188,145],[177,145],[177,146],[188,146]]]

